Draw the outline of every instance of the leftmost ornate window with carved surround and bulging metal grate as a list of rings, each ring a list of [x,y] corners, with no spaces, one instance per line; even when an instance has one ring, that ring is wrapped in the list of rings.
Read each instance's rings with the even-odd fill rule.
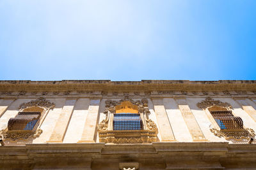
[[[13,141],[20,138],[37,138],[43,132],[40,126],[44,118],[54,106],[54,103],[50,103],[44,97],[20,104],[18,114],[10,118],[7,127],[0,131],[1,136]]]

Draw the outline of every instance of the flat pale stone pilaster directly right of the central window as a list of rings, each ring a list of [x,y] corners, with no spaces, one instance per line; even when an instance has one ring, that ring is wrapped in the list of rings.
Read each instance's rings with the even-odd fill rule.
[[[154,104],[154,110],[159,125],[159,132],[161,134],[162,141],[175,141],[172,127],[170,125],[166,110],[164,108],[163,99],[152,98]]]

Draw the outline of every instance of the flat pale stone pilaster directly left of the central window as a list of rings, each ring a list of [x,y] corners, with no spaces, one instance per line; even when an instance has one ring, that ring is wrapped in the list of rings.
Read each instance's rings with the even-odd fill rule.
[[[91,99],[88,115],[84,124],[83,134],[78,143],[94,143],[97,120],[99,118],[100,99]]]

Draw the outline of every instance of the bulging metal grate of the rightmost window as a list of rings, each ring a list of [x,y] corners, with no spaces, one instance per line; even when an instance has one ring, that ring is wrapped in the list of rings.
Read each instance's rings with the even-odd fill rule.
[[[220,129],[243,129],[241,117],[234,117],[232,111],[210,111]]]

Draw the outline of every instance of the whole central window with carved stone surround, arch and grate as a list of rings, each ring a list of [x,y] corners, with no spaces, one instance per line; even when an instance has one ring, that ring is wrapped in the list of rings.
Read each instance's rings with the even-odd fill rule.
[[[158,129],[148,118],[147,99],[105,101],[106,117],[98,125],[99,141],[104,143],[152,143],[157,141]]]

